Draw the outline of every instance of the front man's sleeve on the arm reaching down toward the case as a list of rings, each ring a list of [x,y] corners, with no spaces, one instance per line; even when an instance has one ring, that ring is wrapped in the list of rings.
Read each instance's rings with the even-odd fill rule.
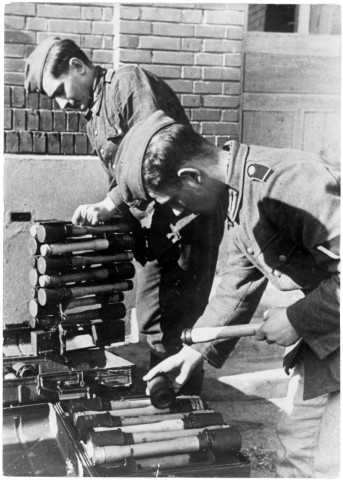
[[[215,295],[194,327],[218,327],[249,323],[260,303],[268,280],[234,244],[234,232],[229,231],[225,271]],[[220,368],[238,339],[199,343],[192,348]]]

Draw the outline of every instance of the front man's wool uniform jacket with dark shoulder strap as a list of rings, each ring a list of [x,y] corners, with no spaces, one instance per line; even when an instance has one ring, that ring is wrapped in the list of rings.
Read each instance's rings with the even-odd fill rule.
[[[196,327],[250,321],[270,281],[304,297],[287,308],[302,340],[286,358],[304,362],[304,399],[339,389],[339,172],[288,149],[228,142],[227,263]],[[236,341],[193,346],[221,367]]]

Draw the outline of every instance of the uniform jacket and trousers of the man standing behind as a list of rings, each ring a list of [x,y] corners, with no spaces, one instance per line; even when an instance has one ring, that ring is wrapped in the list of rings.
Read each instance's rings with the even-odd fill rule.
[[[115,156],[124,135],[137,122],[156,110],[163,110],[178,123],[189,120],[173,90],[161,79],[139,67],[124,66],[118,71],[97,67],[94,103],[86,115],[89,140],[96,150],[110,181],[108,196],[118,210],[128,206],[117,187]],[[182,347],[181,332],[191,327],[203,313],[223,235],[226,199],[215,216],[200,216],[192,222],[187,234],[173,247],[171,259],[162,260],[159,250],[173,236],[177,221],[169,207],[154,205],[149,225],[149,260],[144,268],[136,265],[138,286],[137,317],[142,333],[147,335],[151,350],[164,356]],[[131,208],[131,213],[146,220]],[[177,236],[178,232],[174,232]]]

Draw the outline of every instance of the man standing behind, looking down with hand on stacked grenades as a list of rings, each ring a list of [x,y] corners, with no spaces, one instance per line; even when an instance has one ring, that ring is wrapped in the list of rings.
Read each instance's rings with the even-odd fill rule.
[[[110,188],[101,202],[80,205],[73,223],[96,225],[119,213],[134,215],[149,226],[148,251],[136,251],[144,265],[136,264],[136,309],[150,346],[152,367],[181,348],[182,329],[192,326],[206,306],[225,205],[218,205],[216,216],[195,219],[193,215],[178,223],[169,209],[153,203],[138,202],[129,210],[117,188],[115,157],[129,129],[154,111],[161,109],[186,125],[189,120],[163,80],[135,66],[105,70],[68,39],[48,38],[36,47],[27,60],[25,88],[54,98],[62,109],[86,112],[87,134],[108,174]],[[188,393],[200,393],[202,375],[199,367]]]

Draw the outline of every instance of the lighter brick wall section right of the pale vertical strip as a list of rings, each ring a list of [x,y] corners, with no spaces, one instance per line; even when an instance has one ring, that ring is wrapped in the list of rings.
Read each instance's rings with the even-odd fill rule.
[[[194,127],[216,145],[240,135],[246,9],[229,3],[120,8],[120,63],[164,78]]]

